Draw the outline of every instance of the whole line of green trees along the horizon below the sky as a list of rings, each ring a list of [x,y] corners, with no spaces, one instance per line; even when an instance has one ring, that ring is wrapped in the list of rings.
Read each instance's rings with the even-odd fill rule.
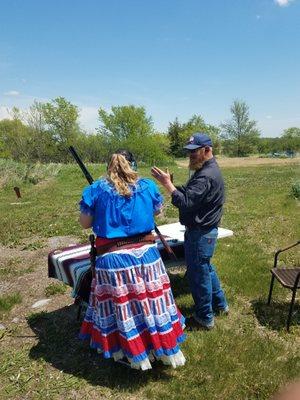
[[[113,106],[110,112],[99,108],[99,127],[88,134],[79,125],[78,107],[64,97],[35,101],[27,112],[13,108],[11,118],[0,121],[0,158],[69,162],[68,147],[73,145],[88,162],[106,162],[114,150],[125,147],[139,162],[166,164],[185,156],[183,146],[196,131],[212,138],[215,154],[241,157],[300,151],[300,128],[288,128],[279,138],[262,138],[245,102],[235,100],[230,112],[231,119],[220,126],[193,115],[187,122],[176,118],[167,132],[157,132],[144,107]]]

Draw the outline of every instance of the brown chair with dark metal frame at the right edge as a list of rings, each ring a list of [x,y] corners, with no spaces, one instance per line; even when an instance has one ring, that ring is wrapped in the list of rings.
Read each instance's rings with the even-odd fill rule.
[[[291,249],[292,247],[297,246],[300,244],[300,240],[297,243],[294,243],[282,250],[278,250],[275,253],[274,257],[274,267],[271,269],[271,283],[270,283],[270,290],[269,290],[269,297],[268,297],[268,305],[271,303],[271,297],[272,297],[272,291],[273,291],[273,285],[274,285],[274,279],[276,278],[278,282],[285,288],[290,289],[292,291],[292,299],[290,303],[290,309],[289,309],[289,315],[286,323],[286,328],[287,331],[289,332],[290,330],[290,323],[291,323],[291,318],[292,318],[292,313],[293,313],[293,308],[294,308],[294,303],[295,303],[295,298],[296,298],[296,293],[297,290],[300,288],[300,267],[296,268],[288,268],[288,267],[281,267],[278,268],[277,266],[277,261],[278,261],[278,256],[280,253]]]

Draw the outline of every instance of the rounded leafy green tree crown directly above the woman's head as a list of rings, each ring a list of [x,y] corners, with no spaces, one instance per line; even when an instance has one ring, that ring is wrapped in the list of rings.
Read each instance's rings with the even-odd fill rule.
[[[111,113],[100,108],[98,114],[102,123],[99,132],[113,140],[142,138],[153,133],[152,118],[147,117],[144,107],[114,106]]]

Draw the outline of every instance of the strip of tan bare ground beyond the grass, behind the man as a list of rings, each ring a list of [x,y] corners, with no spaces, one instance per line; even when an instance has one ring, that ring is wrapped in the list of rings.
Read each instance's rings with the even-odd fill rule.
[[[216,157],[220,167],[253,167],[259,165],[298,165],[300,166],[300,157],[295,158],[260,158],[260,157]],[[188,159],[177,161],[180,167],[188,166]]]

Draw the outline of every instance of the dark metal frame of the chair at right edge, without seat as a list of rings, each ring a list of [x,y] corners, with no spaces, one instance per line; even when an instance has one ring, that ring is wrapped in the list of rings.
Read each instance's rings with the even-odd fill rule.
[[[293,308],[294,308],[294,304],[295,304],[296,293],[297,293],[297,290],[299,289],[298,285],[299,285],[299,281],[300,281],[300,267],[299,268],[297,267],[297,268],[293,269],[293,271],[296,272],[296,275],[293,278],[294,282],[291,285],[290,283],[287,283],[287,281],[284,281],[284,276],[283,277],[281,276],[281,278],[283,278],[283,279],[279,279],[278,275],[276,274],[276,272],[279,269],[278,266],[277,266],[277,263],[278,263],[278,257],[279,257],[280,253],[282,253],[282,252],[284,252],[286,250],[289,250],[289,249],[297,246],[298,244],[300,244],[300,240],[298,240],[298,242],[296,242],[296,243],[294,243],[294,244],[292,244],[292,245],[290,245],[290,246],[288,246],[288,247],[286,247],[286,248],[284,248],[282,250],[277,250],[276,253],[275,253],[275,257],[274,257],[274,267],[273,267],[273,269],[271,269],[272,277],[271,277],[270,290],[269,290],[269,296],[268,296],[268,305],[270,305],[270,303],[271,303],[271,297],[272,297],[275,278],[278,280],[278,282],[283,287],[285,287],[287,289],[290,289],[292,291],[292,299],[291,299],[290,308],[289,308],[289,314],[288,314],[287,323],[286,323],[286,328],[287,328],[288,332],[290,330],[290,324],[291,324],[292,313],[293,313]],[[286,277],[287,277],[287,274],[289,272],[289,268],[286,268],[285,272],[286,272]]]

